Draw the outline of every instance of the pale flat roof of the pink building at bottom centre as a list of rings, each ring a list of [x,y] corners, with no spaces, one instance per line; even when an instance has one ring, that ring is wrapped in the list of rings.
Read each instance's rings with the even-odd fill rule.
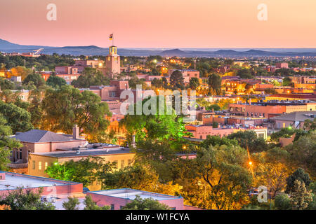
[[[171,200],[180,198],[181,196],[172,196],[172,195],[163,195],[158,193],[147,192],[143,190],[133,190],[129,188],[123,189],[114,189],[114,190],[100,190],[100,191],[90,191],[89,193],[97,194],[97,195],[106,195],[111,197],[119,197],[129,200],[134,200],[136,195],[140,196],[141,198],[152,198],[153,200]]]

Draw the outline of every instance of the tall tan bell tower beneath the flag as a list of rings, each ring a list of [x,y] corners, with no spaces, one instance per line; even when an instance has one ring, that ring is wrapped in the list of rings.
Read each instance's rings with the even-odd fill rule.
[[[121,73],[121,60],[117,55],[117,46],[110,46],[109,55],[106,57],[105,66],[107,68],[107,75],[114,78]]]

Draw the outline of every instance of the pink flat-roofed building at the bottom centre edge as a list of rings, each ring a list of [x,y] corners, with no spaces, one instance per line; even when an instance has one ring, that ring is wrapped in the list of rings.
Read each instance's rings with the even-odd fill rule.
[[[143,190],[122,188],[87,192],[86,195],[90,195],[98,206],[110,206],[111,210],[119,210],[126,204],[131,203],[136,198],[136,195],[142,199],[152,198],[152,200],[157,200],[162,204],[166,204],[172,210],[185,210],[183,197],[181,196],[163,195]]]

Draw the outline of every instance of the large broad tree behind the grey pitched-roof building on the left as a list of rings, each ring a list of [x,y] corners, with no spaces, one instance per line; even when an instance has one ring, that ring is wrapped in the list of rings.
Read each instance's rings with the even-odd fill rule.
[[[112,116],[107,103],[101,102],[98,95],[88,90],[80,92],[70,85],[46,90],[41,110],[42,129],[71,134],[72,127],[77,124],[91,141],[105,136],[110,124],[106,116]]]

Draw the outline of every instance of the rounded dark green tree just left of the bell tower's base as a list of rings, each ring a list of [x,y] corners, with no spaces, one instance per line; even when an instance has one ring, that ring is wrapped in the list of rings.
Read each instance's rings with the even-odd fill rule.
[[[110,78],[104,76],[101,71],[95,68],[84,68],[77,80],[72,81],[72,85],[77,88],[88,88],[91,85],[109,85]]]

